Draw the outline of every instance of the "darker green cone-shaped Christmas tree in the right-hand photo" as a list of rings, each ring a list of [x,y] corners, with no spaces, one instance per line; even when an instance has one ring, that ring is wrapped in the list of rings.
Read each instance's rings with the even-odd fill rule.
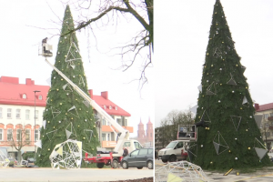
[[[203,67],[202,92],[199,93],[195,164],[205,169],[229,169],[268,165],[254,147],[263,148],[254,119],[255,109],[248,91],[245,67],[240,63],[223,7],[216,1]],[[243,105],[246,96],[248,104]],[[203,116],[203,118],[202,118]],[[260,143],[259,143],[259,142]]]

